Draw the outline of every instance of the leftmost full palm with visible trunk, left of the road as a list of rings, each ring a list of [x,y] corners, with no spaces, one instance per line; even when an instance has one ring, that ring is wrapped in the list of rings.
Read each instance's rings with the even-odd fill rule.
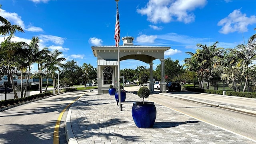
[[[14,96],[15,98],[18,98],[17,96],[17,92],[15,90],[15,85],[14,85],[14,81],[13,81],[13,77],[12,77],[12,66],[16,67],[17,64],[17,60],[15,60],[15,58],[18,56],[17,52],[18,50],[24,48],[27,46],[27,44],[25,42],[12,42],[11,39],[14,37],[13,34],[11,34],[10,36],[8,36],[6,38],[6,40],[4,40],[1,43],[0,46],[0,55],[3,58],[3,61],[0,62],[0,65],[6,65],[8,66],[8,71],[9,71],[9,76],[10,76],[10,80],[12,83],[12,89],[14,92]]]

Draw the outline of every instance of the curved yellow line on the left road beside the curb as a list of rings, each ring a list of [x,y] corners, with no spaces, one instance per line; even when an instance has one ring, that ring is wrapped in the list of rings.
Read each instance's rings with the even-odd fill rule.
[[[81,96],[83,96],[84,94],[82,94]],[[78,98],[80,98],[81,96],[79,96]],[[60,115],[57,119],[57,122],[55,124],[55,128],[54,128],[54,133],[53,133],[53,144],[59,144],[60,140],[59,140],[59,128],[60,128],[60,121],[62,119],[62,116],[64,114],[64,112],[67,110],[67,108],[73,104],[76,100],[78,100],[78,98],[76,98],[75,100],[73,100],[72,102],[70,102],[61,112]]]

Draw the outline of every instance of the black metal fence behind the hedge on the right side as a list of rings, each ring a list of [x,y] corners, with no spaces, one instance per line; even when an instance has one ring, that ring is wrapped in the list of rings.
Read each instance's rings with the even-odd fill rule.
[[[194,87],[200,88],[200,85],[194,83]],[[209,88],[207,87],[207,82],[203,82],[203,88],[235,92],[243,92],[243,90],[244,92],[256,92],[256,80],[248,80],[247,83],[238,80],[211,81]]]

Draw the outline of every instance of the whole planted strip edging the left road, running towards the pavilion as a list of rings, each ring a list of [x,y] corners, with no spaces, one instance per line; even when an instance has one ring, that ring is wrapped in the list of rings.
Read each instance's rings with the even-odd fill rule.
[[[60,90],[60,93],[72,92],[72,91],[76,91],[76,88],[64,88],[64,89]],[[57,90],[56,93],[58,93],[58,90]],[[45,97],[49,97],[49,96],[54,96],[52,94],[52,91],[44,92],[44,93],[41,93],[41,94],[34,94],[32,96],[28,96],[28,97],[25,97],[25,98],[1,100],[1,102],[0,102],[1,111],[2,111],[2,108],[8,108],[9,106],[14,106],[14,105],[17,105],[17,104],[22,104],[22,103],[29,102],[29,101],[32,101],[32,100],[39,100],[41,98],[45,98]]]

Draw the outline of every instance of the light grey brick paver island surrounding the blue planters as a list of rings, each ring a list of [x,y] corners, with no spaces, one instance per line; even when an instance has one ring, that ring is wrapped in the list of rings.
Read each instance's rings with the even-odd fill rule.
[[[142,99],[126,93],[121,111],[114,96],[96,91],[84,94],[70,108],[78,144],[255,144],[156,103],[153,128],[137,128],[131,112],[137,101]]]

